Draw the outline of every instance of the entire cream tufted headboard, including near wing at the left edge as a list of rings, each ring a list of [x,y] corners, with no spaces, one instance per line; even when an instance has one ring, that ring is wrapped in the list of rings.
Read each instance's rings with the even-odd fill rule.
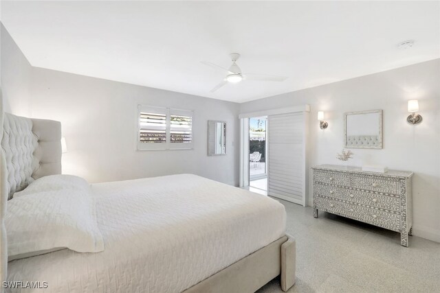
[[[6,202],[33,180],[61,174],[61,123],[3,113],[0,91],[0,140],[0,281],[3,282],[8,274]]]

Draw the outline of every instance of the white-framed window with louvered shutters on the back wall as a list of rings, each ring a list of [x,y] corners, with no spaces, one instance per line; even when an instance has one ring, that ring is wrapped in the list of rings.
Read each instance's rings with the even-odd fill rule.
[[[192,148],[192,111],[137,106],[137,150]]]

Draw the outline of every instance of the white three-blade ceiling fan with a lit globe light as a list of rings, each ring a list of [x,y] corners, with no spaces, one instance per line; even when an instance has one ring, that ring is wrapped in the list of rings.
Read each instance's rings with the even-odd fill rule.
[[[229,54],[231,56],[232,65],[229,67],[229,69],[226,69],[225,67],[221,67],[220,65],[216,65],[214,63],[208,62],[208,61],[202,61],[204,65],[208,65],[210,67],[215,67],[217,69],[222,69],[223,71],[226,71],[226,76],[217,86],[214,86],[212,90],[210,90],[210,93],[214,93],[214,91],[217,91],[222,86],[227,84],[228,82],[234,84],[237,82],[241,82],[242,80],[259,80],[259,81],[265,81],[265,82],[283,82],[287,79],[285,76],[276,76],[276,75],[265,75],[265,74],[254,74],[254,73],[241,73],[241,69],[239,65],[236,65],[236,60],[239,60],[240,54],[238,53],[231,53]]]

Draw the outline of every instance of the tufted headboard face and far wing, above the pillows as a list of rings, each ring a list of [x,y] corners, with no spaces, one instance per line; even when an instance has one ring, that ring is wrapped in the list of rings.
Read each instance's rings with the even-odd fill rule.
[[[8,200],[43,176],[61,174],[61,123],[5,113],[1,148]]]

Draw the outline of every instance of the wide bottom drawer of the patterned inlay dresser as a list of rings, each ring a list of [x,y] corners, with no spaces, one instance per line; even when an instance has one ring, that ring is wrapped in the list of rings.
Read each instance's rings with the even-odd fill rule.
[[[360,220],[369,224],[387,228],[393,231],[400,231],[400,215],[387,213],[386,211],[377,211],[368,207],[361,207],[348,202],[340,202],[331,198],[316,197],[316,207],[330,213],[343,215],[347,218]]]

